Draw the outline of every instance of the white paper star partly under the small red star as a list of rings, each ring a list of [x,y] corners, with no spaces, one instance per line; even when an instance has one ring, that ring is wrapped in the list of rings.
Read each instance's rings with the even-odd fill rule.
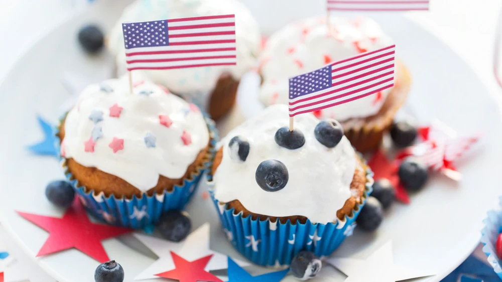
[[[176,268],[171,251],[188,261],[194,261],[201,257],[212,255],[204,267],[204,270],[219,270],[227,268],[227,256],[209,249],[209,224],[205,223],[197,230],[190,233],[181,242],[171,242],[160,238],[135,233],[143,244],[151,249],[158,257],[152,265],[143,270],[135,280],[160,278],[156,274],[170,271]],[[241,266],[249,265],[247,262],[237,261]]]

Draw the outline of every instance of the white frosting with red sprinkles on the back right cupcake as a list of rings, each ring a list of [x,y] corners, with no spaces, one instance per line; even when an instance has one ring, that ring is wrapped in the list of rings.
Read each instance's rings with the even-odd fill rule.
[[[260,57],[264,82],[260,100],[265,105],[288,103],[288,79],[321,68],[329,62],[393,44],[371,19],[349,21],[331,17],[328,30],[325,17],[310,18],[288,25],[273,34]],[[329,31],[329,32],[328,32]],[[346,120],[377,113],[391,88],[350,103],[323,109],[322,117]]]

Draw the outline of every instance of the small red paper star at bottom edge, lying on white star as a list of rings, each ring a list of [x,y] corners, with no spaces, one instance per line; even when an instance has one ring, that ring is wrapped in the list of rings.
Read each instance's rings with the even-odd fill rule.
[[[173,257],[174,265],[176,265],[176,268],[155,274],[156,276],[175,279],[179,280],[180,282],[223,282],[218,277],[204,270],[204,267],[206,267],[207,263],[213,256],[212,254],[194,261],[188,261],[172,251],[171,256]]]

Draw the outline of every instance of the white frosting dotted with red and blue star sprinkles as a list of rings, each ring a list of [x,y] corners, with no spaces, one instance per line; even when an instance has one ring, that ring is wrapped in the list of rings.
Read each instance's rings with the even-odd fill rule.
[[[102,86],[113,91],[100,90]],[[183,177],[208,145],[209,132],[198,108],[156,84],[145,82],[133,92],[129,92],[127,79],[87,86],[66,116],[62,152],[83,166],[98,168],[147,191],[157,185],[160,175]],[[119,115],[115,104],[122,108]],[[162,125],[160,115],[169,116],[172,124]],[[186,143],[190,136],[191,143],[185,145],[182,136]],[[86,142],[88,151],[92,151],[91,137],[95,142],[93,152],[86,152]],[[114,138],[123,139],[123,149],[116,153],[109,147]],[[115,142],[115,149],[120,149],[119,143]]]

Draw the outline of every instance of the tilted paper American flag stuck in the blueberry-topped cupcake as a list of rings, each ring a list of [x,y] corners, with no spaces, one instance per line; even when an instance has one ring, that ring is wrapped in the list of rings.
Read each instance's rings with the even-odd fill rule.
[[[394,86],[396,46],[326,65],[289,79],[289,116],[348,103]]]

